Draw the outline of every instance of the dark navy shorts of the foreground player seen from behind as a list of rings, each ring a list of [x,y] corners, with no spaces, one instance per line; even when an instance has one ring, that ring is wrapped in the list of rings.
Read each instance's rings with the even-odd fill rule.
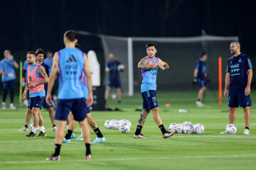
[[[85,120],[85,118],[87,118],[85,108],[85,98],[58,99],[54,119],[67,120],[68,114],[72,111],[75,120]]]

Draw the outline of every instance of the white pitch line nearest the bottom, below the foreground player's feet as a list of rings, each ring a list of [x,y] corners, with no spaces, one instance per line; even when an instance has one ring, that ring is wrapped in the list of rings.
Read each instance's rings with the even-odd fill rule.
[[[206,156],[185,156],[185,157],[131,157],[131,158],[113,158],[113,159],[92,159],[89,162],[112,162],[112,161],[133,161],[145,159],[204,159],[204,158],[229,158],[229,157],[256,157],[256,154],[235,154],[235,155],[206,155]],[[87,162],[85,159],[65,160],[62,162]],[[0,162],[0,164],[38,164],[38,163],[53,163],[48,161],[23,161],[23,162]]]

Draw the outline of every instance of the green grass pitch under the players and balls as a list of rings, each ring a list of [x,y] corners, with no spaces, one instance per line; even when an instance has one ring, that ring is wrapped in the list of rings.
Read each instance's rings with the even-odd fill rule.
[[[107,141],[92,145],[92,161],[86,161],[83,142],[63,144],[61,162],[46,162],[54,150],[55,132],[51,130],[48,113],[42,111],[46,137],[31,137],[28,132],[18,132],[25,121],[26,108],[16,111],[0,110],[0,169],[256,169],[256,107],[253,92],[251,107],[250,135],[242,135],[245,128],[242,108],[238,108],[235,125],[236,135],[220,135],[228,124],[227,99],[218,106],[213,94],[206,94],[206,107],[196,108],[196,92],[158,93],[160,115],[167,129],[171,123],[202,123],[202,135],[176,134],[163,139],[161,131],[154,123],[151,113],[146,119],[142,133],[149,139],[133,139],[142,97],[124,96],[122,103],[110,98],[110,108],[123,111],[92,111]],[[165,104],[171,103],[170,108]],[[7,104],[7,106],[9,106]],[[178,113],[178,109],[188,109],[188,113]],[[110,119],[128,119],[131,131],[122,134],[119,130],[105,130],[104,122]],[[80,135],[80,128],[75,129]],[[91,130],[91,138],[95,133]]]

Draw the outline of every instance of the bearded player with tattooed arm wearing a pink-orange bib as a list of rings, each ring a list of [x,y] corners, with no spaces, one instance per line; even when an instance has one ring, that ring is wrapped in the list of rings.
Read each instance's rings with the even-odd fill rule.
[[[41,132],[37,137],[41,137],[46,135],[46,130],[43,126],[43,118],[41,116],[40,110],[42,108],[43,101],[46,98],[44,84],[46,84],[49,79],[48,75],[46,74],[46,69],[41,66],[41,64],[36,63],[35,52],[28,52],[26,59],[29,64],[27,69],[28,81],[26,81],[22,99],[26,99],[26,94],[29,89],[28,108],[32,111],[33,114],[33,128],[31,132],[26,136],[36,136],[36,131],[38,130],[39,126]]]

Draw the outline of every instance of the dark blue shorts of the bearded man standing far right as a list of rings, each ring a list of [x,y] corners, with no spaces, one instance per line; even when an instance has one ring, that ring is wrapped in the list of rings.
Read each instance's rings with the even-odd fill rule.
[[[245,89],[230,89],[228,94],[228,107],[230,108],[245,108],[252,106],[250,95],[245,96]]]

